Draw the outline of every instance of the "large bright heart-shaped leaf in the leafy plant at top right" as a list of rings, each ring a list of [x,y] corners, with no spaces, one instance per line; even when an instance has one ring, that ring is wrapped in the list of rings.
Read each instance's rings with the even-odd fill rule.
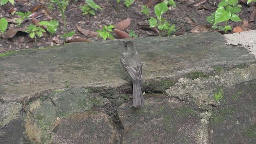
[[[214,25],[219,22],[225,22],[228,21],[231,17],[230,12],[226,12],[224,7],[217,8],[215,12],[215,18],[214,18]]]

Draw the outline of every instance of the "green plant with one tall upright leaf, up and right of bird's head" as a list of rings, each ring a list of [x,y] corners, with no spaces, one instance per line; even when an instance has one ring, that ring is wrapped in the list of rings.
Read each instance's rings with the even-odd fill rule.
[[[170,1],[172,1],[172,0],[170,0]],[[168,6],[167,6],[166,2],[161,2],[161,3],[157,4],[154,7],[154,10],[155,10],[157,19],[154,17],[151,17],[150,20],[148,20],[150,28],[157,26],[160,31],[167,30],[168,31],[167,35],[170,36],[170,34],[172,32],[176,31],[176,29],[175,29],[175,25],[170,26],[170,23],[167,22],[162,17],[162,14],[164,14],[166,11],[168,11]],[[159,33],[159,35],[160,35],[160,33]]]

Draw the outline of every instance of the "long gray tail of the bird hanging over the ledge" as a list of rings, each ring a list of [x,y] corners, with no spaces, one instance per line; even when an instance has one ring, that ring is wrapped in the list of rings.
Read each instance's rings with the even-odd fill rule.
[[[140,84],[132,84],[133,87],[133,106],[134,108],[140,108],[145,105],[144,98],[141,92]]]

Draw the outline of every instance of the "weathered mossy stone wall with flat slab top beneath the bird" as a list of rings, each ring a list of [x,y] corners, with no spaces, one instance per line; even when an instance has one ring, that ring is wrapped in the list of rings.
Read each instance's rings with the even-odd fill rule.
[[[121,41],[0,57],[0,143],[255,142],[253,54],[218,33],[132,41],[142,57],[142,109],[122,79]]]

